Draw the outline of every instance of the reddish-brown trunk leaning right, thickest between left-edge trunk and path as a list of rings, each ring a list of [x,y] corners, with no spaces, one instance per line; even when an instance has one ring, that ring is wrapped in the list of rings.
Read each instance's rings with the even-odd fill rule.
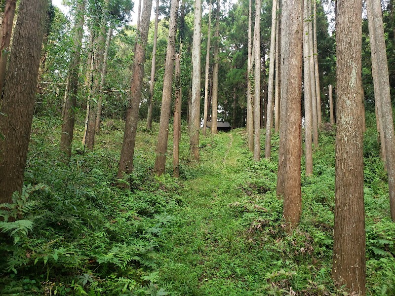
[[[136,144],[137,122],[141,89],[143,86],[144,62],[147,49],[148,29],[150,27],[152,0],[144,1],[143,15],[141,17],[141,35],[134,48],[133,74],[130,83],[129,106],[126,113],[125,133],[123,135],[122,148],[118,167],[118,178],[123,173],[130,174],[133,171],[133,155]]]

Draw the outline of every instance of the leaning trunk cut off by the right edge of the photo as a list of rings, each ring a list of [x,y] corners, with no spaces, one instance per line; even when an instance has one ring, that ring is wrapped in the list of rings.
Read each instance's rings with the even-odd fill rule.
[[[387,51],[384,38],[383,16],[381,11],[381,1],[367,0],[368,12],[369,6],[372,7],[374,20],[375,52],[372,51],[372,59],[377,59],[378,71],[376,78],[379,79],[380,96],[379,105],[383,115],[383,136],[386,148],[388,187],[390,192],[390,211],[391,218],[395,221],[395,135],[394,121],[391,104],[390,82],[388,73]],[[370,35],[370,30],[369,30]],[[374,54],[373,54],[374,53]],[[373,79],[375,76],[373,76]]]

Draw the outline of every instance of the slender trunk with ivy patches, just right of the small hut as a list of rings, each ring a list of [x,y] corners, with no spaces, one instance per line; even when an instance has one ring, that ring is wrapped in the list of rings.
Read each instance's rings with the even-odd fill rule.
[[[252,64],[254,63],[254,54],[252,52],[252,0],[249,0],[248,10],[248,65],[247,65],[247,122],[246,132],[248,148],[254,151],[254,99],[251,87]]]

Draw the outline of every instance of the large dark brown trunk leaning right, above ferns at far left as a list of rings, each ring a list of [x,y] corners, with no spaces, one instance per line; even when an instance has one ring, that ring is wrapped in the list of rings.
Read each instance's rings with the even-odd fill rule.
[[[21,0],[1,103],[0,203],[20,191],[26,166],[47,0]]]

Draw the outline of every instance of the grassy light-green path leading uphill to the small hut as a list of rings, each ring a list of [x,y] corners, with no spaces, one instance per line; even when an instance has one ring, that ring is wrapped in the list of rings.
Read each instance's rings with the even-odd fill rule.
[[[248,225],[230,206],[240,201],[234,181],[246,169],[238,160],[247,151],[237,133],[214,139],[196,176],[184,182],[176,225],[164,237],[161,269],[181,295],[257,295],[254,269],[263,262],[249,254]]]

